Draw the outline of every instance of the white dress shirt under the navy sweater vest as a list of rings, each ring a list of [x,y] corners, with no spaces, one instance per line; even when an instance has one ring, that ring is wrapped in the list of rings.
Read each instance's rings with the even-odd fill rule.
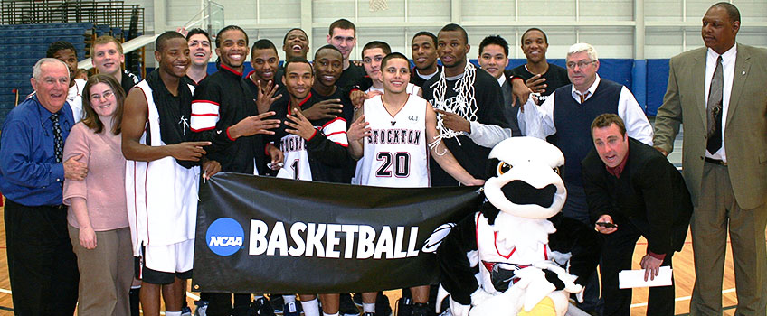
[[[583,95],[586,95],[585,99],[591,98],[599,86],[601,79],[599,75],[596,76],[597,79],[594,80],[592,86],[583,93]],[[571,85],[571,95],[575,102],[581,103],[582,94],[573,85]],[[531,96],[527,99],[524,108],[525,111],[519,111],[516,116],[519,121],[519,129],[522,130],[523,135],[545,139],[546,136],[556,134],[556,126],[554,126],[554,98],[546,98],[544,104],[538,107]],[[637,99],[634,98],[634,95],[631,94],[631,91],[626,86],[623,86],[620,90],[618,116],[623,119],[626,125],[626,133],[629,134],[629,137],[639,140],[639,142],[644,144],[652,145],[652,126],[649,125],[649,120],[642,107],[639,106]]]

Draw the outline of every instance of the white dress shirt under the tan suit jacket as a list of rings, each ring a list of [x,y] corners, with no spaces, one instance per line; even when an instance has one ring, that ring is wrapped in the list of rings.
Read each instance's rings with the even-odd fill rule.
[[[724,162],[727,161],[727,154],[724,150],[724,128],[727,124],[727,108],[730,107],[730,95],[733,92],[733,78],[735,74],[735,56],[738,52],[738,45],[733,45],[729,51],[724,51],[722,54],[722,75],[724,77],[724,87],[722,88],[722,147],[719,148],[716,153],[708,153],[705,151],[705,156],[708,158],[719,159]],[[716,68],[716,60],[719,58],[719,54],[712,49],[706,50],[705,54],[705,107],[708,107],[708,89],[711,88],[711,79],[714,77],[714,70]]]

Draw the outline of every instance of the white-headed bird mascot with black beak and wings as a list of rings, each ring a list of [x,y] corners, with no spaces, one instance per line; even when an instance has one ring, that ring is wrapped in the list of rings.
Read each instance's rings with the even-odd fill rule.
[[[484,204],[437,249],[437,302],[450,294],[455,316],[564,315],[571,293],[582,298],[601,239],[561,213],[563,154],[543,140],[513,137],[489,159]]]

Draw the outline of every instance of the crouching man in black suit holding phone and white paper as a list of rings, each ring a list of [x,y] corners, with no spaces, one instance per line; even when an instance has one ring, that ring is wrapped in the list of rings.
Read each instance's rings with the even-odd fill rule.
[[[592,223],[605,237],[601,253],[604,315],[630,315],[631,289],[618,273],[631,269],[640,236],[648,241],[640,265],[645,279],[671,265],[682,249],[693,205],[685,181],[666,157],[626,134],[623,120],[602,114],[592,122],[595,149],[581,162]],[[649,289],[648,315],[674,315],[674,285]]]

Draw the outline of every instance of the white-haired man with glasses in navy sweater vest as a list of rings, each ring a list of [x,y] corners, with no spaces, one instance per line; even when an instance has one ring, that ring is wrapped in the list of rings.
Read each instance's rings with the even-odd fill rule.
[[[523,135],[539,138],[554,135],[554,145],[564,154],[562,179],[567,188],[567,201],[562,213],[592,226],[597,218],[589,218],[581,179],[581,161],[593,147],[592,121],[604,113],[617,114],[626,122],[626,132],[631,138],[649,145],[652,145],[652,126],[629,88],[601,79],[597,74],[600,62],[591,44],[581,42],[570,46],[566,66],[572,84],[554,90],[554,98],[546,98],[541,107],[535,107],[535,101],[529,98],[525,111],[520,111],[517,117]],[[582,309],[595,310],[599,297],[596,274],[586,286],[584,296]]]

